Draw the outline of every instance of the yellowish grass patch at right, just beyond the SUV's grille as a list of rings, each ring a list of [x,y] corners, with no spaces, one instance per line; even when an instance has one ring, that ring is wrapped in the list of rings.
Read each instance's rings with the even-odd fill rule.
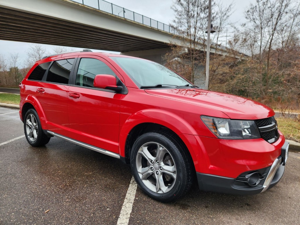
[[[276,118],[278,129],[286,139],[300,142],[300,119]]]

